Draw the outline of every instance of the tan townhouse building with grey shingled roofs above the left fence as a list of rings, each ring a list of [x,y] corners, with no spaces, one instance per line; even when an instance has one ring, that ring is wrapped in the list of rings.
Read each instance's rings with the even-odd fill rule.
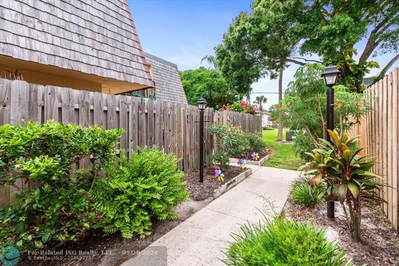
[[[126,0],[0,0],[0,25],[0,78],[112,94],[155,80],[158,99],[187,104],[176,65],[144,54]]]

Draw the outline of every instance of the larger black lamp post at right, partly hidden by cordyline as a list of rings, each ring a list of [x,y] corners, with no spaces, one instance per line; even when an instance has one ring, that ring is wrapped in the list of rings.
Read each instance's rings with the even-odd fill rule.
[[[327,129],[334,131],[334,89],[333,86],[337,82],[338,75],[341,71],[336,66],[329,65],[324,69],[321,75],[324,79],[324,83],[328,86],[326,91],[327,95]],[[330,134],[327,134],[327,140],[332,143]],[[327,202],[327,218],[330,220],[335,219],[334,214],[334,201]]]

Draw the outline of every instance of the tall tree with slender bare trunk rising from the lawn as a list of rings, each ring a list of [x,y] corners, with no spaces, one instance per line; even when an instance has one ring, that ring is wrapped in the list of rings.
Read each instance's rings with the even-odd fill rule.
[[[252,13],[241,12],[215,47],[215,65],[227,84],[246,94],[252,83],[269,76],[279,78],[279,100],[282,99],[283,70],[287,63],[304,63],[292,58],[300,39],[286,34],[296,21],[290,9],[301,9],[302,3],[278,0],[255,1]],[[277,140],[282,140],[283,123],[278,118]]]

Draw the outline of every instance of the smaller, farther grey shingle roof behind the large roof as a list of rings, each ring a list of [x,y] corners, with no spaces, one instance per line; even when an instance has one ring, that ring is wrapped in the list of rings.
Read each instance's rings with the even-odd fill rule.
[[[157,100],[187,105],[178,66],[149,53],[144,54],[151,65]]]

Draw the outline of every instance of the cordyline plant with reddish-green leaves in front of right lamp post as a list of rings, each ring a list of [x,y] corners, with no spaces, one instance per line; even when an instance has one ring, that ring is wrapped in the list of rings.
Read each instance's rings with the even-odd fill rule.
[[[319,139],[318,147],[307,152],[313,160],[299,170],[314,175],[310,181],[312,187],[322,180],[330,184],[326,199],[340,202],[352,239],[360,241],[362,202],[387,203],[376,192],[384,184],[374,180],[383,178],[369,171],[376,157],[359,155],[365,147],[359,148],[356,138],[349,139],[347,134],[339,138],[338,133],[330,130],[328,133],[333,143]]]

